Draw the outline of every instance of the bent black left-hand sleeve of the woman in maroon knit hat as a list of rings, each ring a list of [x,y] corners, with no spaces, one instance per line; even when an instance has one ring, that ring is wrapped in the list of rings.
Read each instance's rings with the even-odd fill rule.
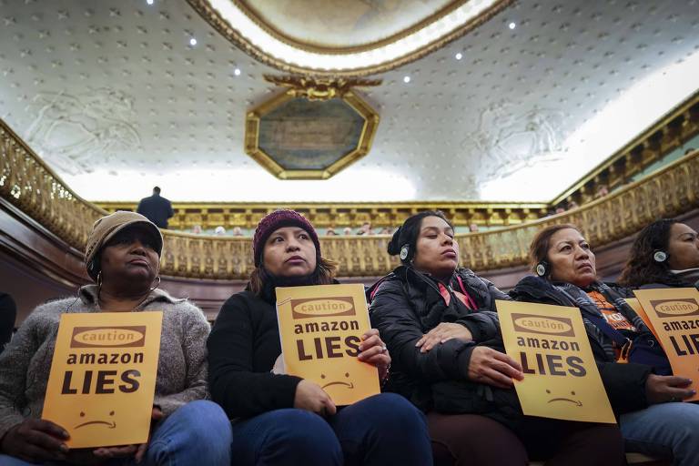
[[[250,417],[294,405],[298,377],[253,370],[250,309],[239,294],[218,313],[208,337],[208,384],[211,398],[228,417]]]

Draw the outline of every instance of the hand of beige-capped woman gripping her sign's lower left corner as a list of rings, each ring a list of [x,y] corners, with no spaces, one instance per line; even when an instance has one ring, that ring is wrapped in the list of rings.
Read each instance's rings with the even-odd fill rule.
[[[68,437],[50,420],[26,419],[5,433],[0,451],[29,462],[64,461]]]

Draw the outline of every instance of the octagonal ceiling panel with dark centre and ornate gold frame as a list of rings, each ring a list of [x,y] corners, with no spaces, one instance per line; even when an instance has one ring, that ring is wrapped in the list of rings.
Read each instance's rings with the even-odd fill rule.
[[[379,114],[354,90],[380,80],[273,77],[289,90],[248,111],[245,152],[280,179],[328,179],[371,148]]]

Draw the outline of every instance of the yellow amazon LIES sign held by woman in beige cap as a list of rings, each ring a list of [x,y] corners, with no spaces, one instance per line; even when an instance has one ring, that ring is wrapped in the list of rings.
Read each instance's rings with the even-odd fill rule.
[[[63,314],[42,418],[71,448],[146,443],[163,313]]]

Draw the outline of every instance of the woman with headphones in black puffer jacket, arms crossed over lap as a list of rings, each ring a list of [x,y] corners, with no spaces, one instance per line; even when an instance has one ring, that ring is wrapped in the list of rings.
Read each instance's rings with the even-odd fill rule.
[[[408,218],[388,251],[401,265],[369,290],[371,323],[392,356],[389,390],[427,414],[435,464],[623,463],[613,425],[522,415],[522,367],[504,353],[495,307],[510,298],[459,268],[441,212]]]

